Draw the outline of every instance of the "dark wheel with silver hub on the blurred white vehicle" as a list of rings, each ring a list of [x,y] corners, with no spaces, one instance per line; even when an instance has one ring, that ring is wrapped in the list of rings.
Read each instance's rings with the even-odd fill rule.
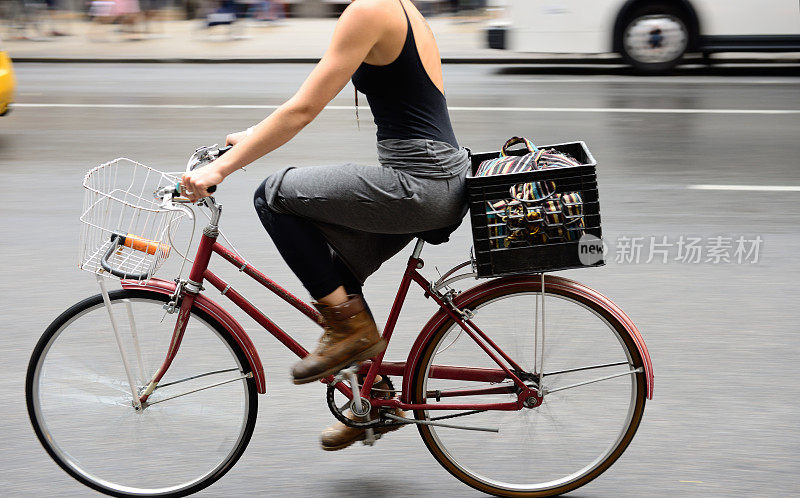
[[[647,3],[626,16],[617,34],[622,58],[637,71],[654,74],[674,68],[689,48],[688,15],[670,3]]]

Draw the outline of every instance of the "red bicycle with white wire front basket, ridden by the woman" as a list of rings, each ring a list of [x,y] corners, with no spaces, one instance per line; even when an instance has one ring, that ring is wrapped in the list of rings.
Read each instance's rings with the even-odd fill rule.
[[[198,149],[187,169],[223,152]],[[253,434],[258,394],[266,392],[253,343],[203,285],[297,356],[307,354],[209,269],[211,255],[311,322],[323,320],[217,240],[222,206],[213,196],[198,202],[209,222],[188,278],[155,278],[171,253],[180,254],[175,227],[191,211],[176,190],[177,176],[133,163],[133,176],[142,172],[147,181],[126,179],[127,188],[112,189],[112,180],[124,176],[111,171],[123,163],[112,163],[84,180],[84,238],[99,245],[83,268],[97,274],[101,292],[64,311],[39,340],[27,371],[28,413],[50,457],[81,483],[113,496],[185,496],[233,467]],[[151,187],[144,184],[153,182],[156,200],[147,204]],[[122,231],[126,218],[109,207],[120,203],[135,212]],[[650,357],[630,318],[589,287],[544,273],[456,291],[453,284],[475,278],[472,260],[430,282],[419,272],[424,245],[417,239],[383,337],[390,341],[412,284],[438,311],[406,361],[380,354],[323,379],[333,415],[365,428],[365,444],[379,437],[377,427],[416,425],[449,473],[498,496],[553,496],[602,474],[631,442],[652,397]],[[109,275],[121,279],[121,289],[107,290]],[[378,375],[389,379],[388,388],[373,388]],[[373,407],[380,415],[370,419]]]

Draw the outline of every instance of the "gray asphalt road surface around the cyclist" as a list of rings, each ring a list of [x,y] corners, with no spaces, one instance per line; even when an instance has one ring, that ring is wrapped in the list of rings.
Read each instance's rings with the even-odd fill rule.
[[[266,115],[269,108],[261,106],[288,98],[310,66],[20,64],[16,69],[19,105],[0,119],[0,489],[5,496],[88,496],[93,492],[63,473],[36,441],[23,393],[27,361],[44,328],[96,292],[91,275],[76,269],[83,174],[119,156],[180,170],[196,146],[223,141],[226,133]],[[599,164],[610,261],[600,269],[565,273],[610,296],[638,324],[655,366],[655,397],[623,457],[573,495],[796,493],[796,72],[685,70],[638,78],[448,66],[445,79],[463,145],[495,150],[512,135],[539,144],[580,139]],[[362,112],[359,130],[351,91],[332,105],[339,107],[324,111],[283,149],[231,176],[217,196],[225,204],[223,230],[235,246],[303,296],[262,233],[250,199],[266,174],[288,164],[374,163],[369,113]],[[678,243],[693,237],[701,238],[701,259],[683,261]],[[731,262],[714,262],[715,237],[732,244],[722,251]],[[740,237],[760,238],[757,258],[751,253],[736,261]],[[642,244],[638,263],[627,250],[634,240]],[[651,241],[673,244],[656,247],[666,249],[666,262],[661,253],[647,262]],[[426,248],[425,271],[434,276],[434,266],[444,270],[460,263],[469,247],[465,223],[450,243]],[[379,322],[388,314],[408,252],[367,283]],[[291,309],[253,284],[237,282],[302,342],[310,345],[316,338],[317,331]],[[420,295],[410,304],[390,359],[404,357],[433,311]],[[318,433],[331,420],[323,389],[292,385],[291,355],[252,321],[242,322],[259,348],[268,394],[261,398],[256,433],[244,457],[202,495],[477,495],[435,463],[412,428],[390,434],[374,448],[321,451]]]

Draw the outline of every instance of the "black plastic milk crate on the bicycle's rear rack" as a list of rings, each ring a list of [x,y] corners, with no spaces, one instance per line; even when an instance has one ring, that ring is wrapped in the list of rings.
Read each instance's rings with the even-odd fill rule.
[[[597,193],[597,174],[594,158],[583,142],[569,142],[557,145],[541,146],[541,149],[555,149],[569,154],[580,165],[566,168],[552,168],[524,173],[505,175],[467,177],[467,201],[469,202],[470,219],[472,221],[472,240],[475,247],[475,263],[478,277],[495,277],[526,273],[540,273],[568,268],[584,268],[602,266],[602,256],[594,256],[591,265],[581,262],[579,241],[548,240],[546,242],[527,242],[521,246],[493,247],[497,245],[498,236],[490,235],[487,215],[487,202],[495,203],[511,198],[509,189],[519,183],[533,181],[553,181],[555,192],[559,194],[579,192],[583,200],[582,233],[602,237],[600,228],[600,203]],[[512,150],[510,155],[524,155],[527,150]],[[484,152],[472,154],[472,174],[481,162],[493,159],[500,152]],[[502,225],[498,219],[493,220],[493,227]],[[586,259],[586,258],[584,258]]]

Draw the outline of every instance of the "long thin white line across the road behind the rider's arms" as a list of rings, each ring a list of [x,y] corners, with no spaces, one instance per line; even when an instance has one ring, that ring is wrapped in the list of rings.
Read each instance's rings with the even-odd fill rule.
[[[63,104],[63,103],[17,103],[14,107],[32,108],[72,108],[72,109],[266,109],[274,110],[277,105],[228,104]],[[334,111],[354,111],[355,106],[329,105],[325,109]],[[619,113],[619,114],[800,114],[800,109],[646,109],[637,107],[448,107],[451,111],[465,112],[576,112],[576,113]],[[362,111],[369,107],[362,106]]]

